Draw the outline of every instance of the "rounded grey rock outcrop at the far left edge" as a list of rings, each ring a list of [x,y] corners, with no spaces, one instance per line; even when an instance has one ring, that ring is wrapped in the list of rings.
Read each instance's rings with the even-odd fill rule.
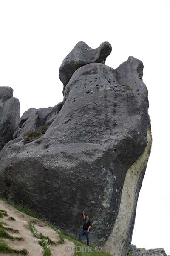
[[[0,87],[0,150],[12,140],[20,122],[20,103],[11,87]]]

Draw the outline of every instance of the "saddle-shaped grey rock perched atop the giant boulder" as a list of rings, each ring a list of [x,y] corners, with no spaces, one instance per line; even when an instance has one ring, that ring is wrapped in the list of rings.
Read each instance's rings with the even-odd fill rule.
[[[111,44],[102,43],[98,48],[92,49],[85,42],[79,42],[65,57],[59,68],[59,78],[64,85],[71,79],[74,71],[85,64],[99,62],[105,64],[106,57],[111,53]],[[64,93],[63,89],[63,93]]]

